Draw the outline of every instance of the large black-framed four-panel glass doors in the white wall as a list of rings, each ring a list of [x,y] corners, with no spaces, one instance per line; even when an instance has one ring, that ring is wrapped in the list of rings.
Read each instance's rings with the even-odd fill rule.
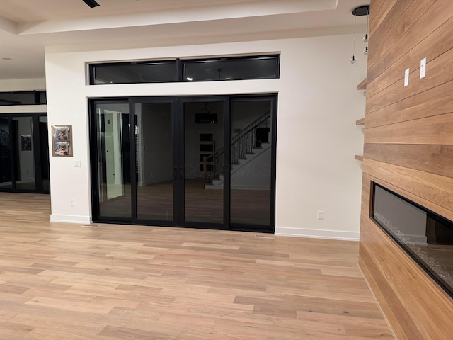
[[[273,232],[276,96],[91,102],[93,220]]]

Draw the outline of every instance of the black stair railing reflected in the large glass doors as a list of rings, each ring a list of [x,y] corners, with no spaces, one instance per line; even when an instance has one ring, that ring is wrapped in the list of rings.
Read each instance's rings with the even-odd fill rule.
[[[258,128],[269,128],[270,111],[247,125],[236,136],[231,138],[231,164],[239,164],[239,159],[246,159],[247,154],[253,154],[254,147],[260,147],[261,141],[257,140]],[[212,166],[208,167],[208,162]],[[203,177],[205,184],[210,184],[218,179],[224,167],[224,148],[221,147],[209,156],[203,157]]]

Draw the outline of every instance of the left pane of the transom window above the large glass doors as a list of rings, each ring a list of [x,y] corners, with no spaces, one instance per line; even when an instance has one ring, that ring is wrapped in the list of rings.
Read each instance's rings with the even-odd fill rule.
[[[176,60],[91,65],[90,84],[168,83],[176,81]]]

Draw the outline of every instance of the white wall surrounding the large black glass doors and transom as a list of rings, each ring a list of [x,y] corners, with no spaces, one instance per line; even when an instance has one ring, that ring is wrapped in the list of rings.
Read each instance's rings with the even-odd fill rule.
[[[363,136],[355,120],[365,114],[365,97],[357,84],[365,78],[366,62],[365,56],[357,56],[357,63],[350,64],[352,35],[74,50],[46,49],[49,123],[72,124],[74,131],[74,157],[50,160],[52,220],[91,221],[88,97],[277,92],[276,233],[358,239],[362,173],[354,154],[362,153]],[[86,62],[268,52],[281,52],[280,79],[86,85]],[[74,168],[75,159],[81,160],[80,168]],[[323,210],[323,220],[316,220],[318,210]]]

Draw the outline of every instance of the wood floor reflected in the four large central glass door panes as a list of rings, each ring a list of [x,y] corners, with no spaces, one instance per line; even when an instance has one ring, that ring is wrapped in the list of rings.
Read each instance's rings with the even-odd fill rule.
[[[198,180],[185,181],[185,220],[222,223],[224,191],[206,190]],[[270,191],[231,190],[231,222],[270,225]],[[100,204],[102,217],[130,217],[130,186],[123,196]],[[140,220],[173,220],[173,182],[137,187],[137,217]]]

